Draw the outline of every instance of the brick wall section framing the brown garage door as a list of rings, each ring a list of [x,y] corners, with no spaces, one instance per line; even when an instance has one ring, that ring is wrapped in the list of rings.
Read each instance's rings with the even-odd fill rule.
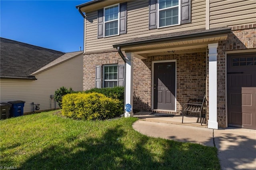
[[[217,56],[217,121],[218,126],[226,128],[226,51],[256,48],[256,24],[232,26],[232,33],[218,43]],[[241,52],[241,51],[240,51]]]

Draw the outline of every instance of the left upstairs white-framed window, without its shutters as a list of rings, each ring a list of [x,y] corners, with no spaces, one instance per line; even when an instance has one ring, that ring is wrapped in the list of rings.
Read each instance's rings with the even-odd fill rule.
[[[118,35],[119,4],[104,8],[104,37]]]

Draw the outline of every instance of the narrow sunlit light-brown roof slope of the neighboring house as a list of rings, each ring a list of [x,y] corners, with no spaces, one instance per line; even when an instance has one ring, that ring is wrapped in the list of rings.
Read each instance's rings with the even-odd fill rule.
[[[52,67],[54,67],[55,65],[58,65],[64,61],[67,61],[69,59],[72,59],[73,57],[76,57],[80,54],[82,54],[83,51],[76,51],[76,52],[70,52],[70,53],[66,53],[60,57],[58,57],[57,59],[55,59],[54,61],[50,62],[49,64],[45,65],[44,67],[38,69],[37,71],[35,71],[34,73],[32,73],[31,75],[36,75],[42,71],[45,71],[47,69],[50,69]]]

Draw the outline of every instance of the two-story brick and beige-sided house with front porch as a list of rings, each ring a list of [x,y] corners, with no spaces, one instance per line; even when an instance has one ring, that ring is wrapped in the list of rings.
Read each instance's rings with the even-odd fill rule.
[[[255,0],[92,0],[76,8],[84,90],[124,85],[133,109],[174,114],[206,95],[208,128],[256,129]]]

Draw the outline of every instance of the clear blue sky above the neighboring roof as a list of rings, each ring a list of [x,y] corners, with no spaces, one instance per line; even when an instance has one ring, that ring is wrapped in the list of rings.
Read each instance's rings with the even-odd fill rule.
[[[0,36],[62,52],[83,50],[84,18],[76,9],[88,0],[0,0]]]

